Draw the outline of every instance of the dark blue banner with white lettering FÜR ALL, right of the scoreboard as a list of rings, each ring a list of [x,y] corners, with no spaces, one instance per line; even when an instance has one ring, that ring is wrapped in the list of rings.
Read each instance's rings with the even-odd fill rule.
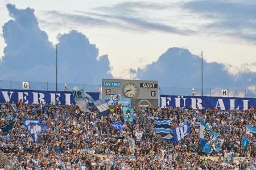
[[[256,108],[256,99],[243,97],[210,97],[210,96],[171,96],[160,95],[160,107],[186,107],[193,109],[212,109],[216,107],[221,110],[237,109],[247,110],[253,105]]]

